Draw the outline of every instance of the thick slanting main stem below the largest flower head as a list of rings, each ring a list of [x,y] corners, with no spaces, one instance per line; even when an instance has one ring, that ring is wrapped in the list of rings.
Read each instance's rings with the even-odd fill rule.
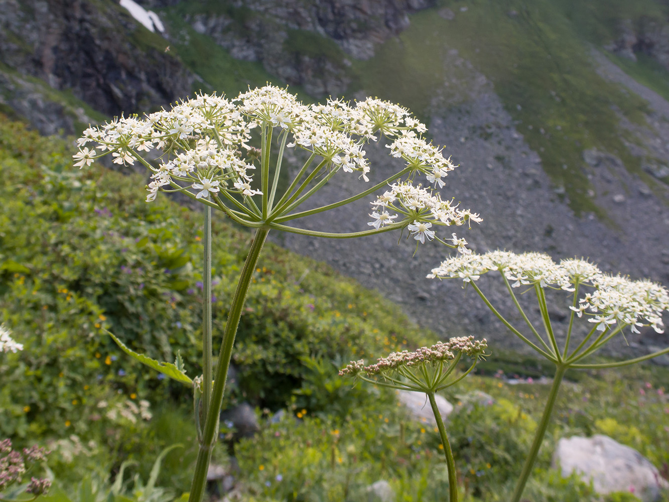
[[[209,469],[211,450],[213,449],[216,440],[215,434],[219,421],[219,414],[221,412],[221,404],[223,402],[223,392],[225,391],[225,380],[230,365],[232,346],[235,343],[235,335],[237,334],[237,327],[240,324],[240,317],[242,317],[242,308],[246,302],[246,293],[248,292],[249,284],[251,284],[253,273],[256,269],[256,264],[258,263],[258,256],[260,256],[262,246],[265,244],[269,231],[270,230],[265,227],[256,230],[256,236],[254,236],[251,249],[246,257],[246,263],[244,263],[244,268],[242,268],[240,280],[237,282],[237,290],[235,290],[235,296],[232,299],[230,311],[227,315],[225,331],[223,331],[223,343],[221,343],[221,351],[216,365],[213,390],[211,391],[209,413],[207,413],[202,441],[200,443],[199,451],[197,452],[195,475],[193,476],[191,493],[188,499],[189,502],[201,502],[202,495],[205,491],[207,469]]]

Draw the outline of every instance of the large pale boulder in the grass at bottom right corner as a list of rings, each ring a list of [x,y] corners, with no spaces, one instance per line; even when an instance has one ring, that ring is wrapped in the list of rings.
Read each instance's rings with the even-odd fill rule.
[[[576,471],[586,483],[592,479],[599,493],[634,491],[644,502],[658,500],[660,490],[669,487],[648,458],[602,434],[562,438],[557,442],[553,464],[559,465],[565,477]]]

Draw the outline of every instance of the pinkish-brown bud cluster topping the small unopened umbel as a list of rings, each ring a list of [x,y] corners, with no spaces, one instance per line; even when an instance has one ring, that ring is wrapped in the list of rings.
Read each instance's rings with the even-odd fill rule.
[[[380,375],[399,367],[411,367],[420,364],[436,363],[438,361],[452,361],[458,353],[477,359],[484,355],[488,348],[486,339],[474,340],[473,336],[454,337],[446,342],[438,341],[432,347],[421,347],[413,352],[407,350],[393,352],[388,357],[377,359],[376,363],[365,366],[363,359],[352,361],[339,371],[341,376],[355,376],[359,373]]]

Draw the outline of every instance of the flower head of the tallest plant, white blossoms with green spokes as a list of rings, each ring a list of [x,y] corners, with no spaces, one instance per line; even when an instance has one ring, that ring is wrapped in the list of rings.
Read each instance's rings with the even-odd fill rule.
[[[304,104],[286,88],[266,85],[233,99],[197,94],[144,117],[120,116],[89,127],[77,141],[80,151],[74,159],[78,167],[104,155],[122,165],[145,165],[151,171],[147,202],[155,200],[159,191],[180,191],[217,207],[238,224],[292,231],[295,228],[286,222],[305,213],[296,208],[335,173],[357,173],[369,181],[365,145],[381,135],[387,139],[389,155],[405,165],[397,171],[397,181],[372,203],[373,220],[368,225],[373,229],[361,233],[408,228],[417,243],[425,243],[439,239],[433,226],[480,222],[478,214],[459,210],[457,203],[442,199],[437,191],[446,186],[444,179],[456,166],[444,157],[442,147],[425,140],[426,131],[409,110],[377,98],[359,102],[330,98],[324,104]],[[260,149],[249,145],[252,133],[260,135]],[[94,149],[89,149],[91,143]],[[275,161],[276,143],[279,158]],[[154,149],[163,153],[158,163],[143,157]],[[281,166],[288,149],[304,151],[308,160],[295,171],[292,182],[278,183],[286,175]],[[254,172],[260,173],[260,180]],[[413,184],[419,176],[425,177],[427,188]],[[282,189],[288,191],[281,194]],[[373,191],[361,191],[340,202]],[[334,202],[318,209],[339,205]],[[439,240],[465,249],[460,241],[451,245]]]

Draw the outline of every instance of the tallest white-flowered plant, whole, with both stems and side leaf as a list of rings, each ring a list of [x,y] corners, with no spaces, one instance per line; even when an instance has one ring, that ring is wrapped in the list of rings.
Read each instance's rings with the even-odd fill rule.
[[[191,380],[179,360],[175,364],[153,361],[117,343],[132,357],[195,388],[195,420],[199,454],[190,501],[201,500],[211,449],[215,444],[219,412],[225,390],[237,325],[242,314],[252,273],[270,230],[314,237],[355,238],[403,230],[416,246],[440,240],[453,248],[466,242],[442,238],[441,226],[463,226],[480,222],[478,214],[462,210],[442,199],[436,187],[455,166],[440,148],[425,141],[426,128],[409,110],[397,104],[368,98],[351,104],[328,100],[305,105],[287,90],[265,86],[229,100],[224,96],[200,94],[161,110],[139,116],[121,117],[100,127],[90,127],[78,140],[75,165],[86,167],[103,155],[114,163],[140,163],[151,172],[147,202],[159,191],[181,192],[205,205],[203,270],[203,374]],[[252,147],[259,137],[260,149]],[[403,166],[391,177],[365,187],[356,195],[311,209],[301,209],[332,177],[340,172],[357,173],[369,183],[371,167],[365,145],[387,138],[391,157]],[[256,141],[258,141],[256,139]],[[257,143],[256,143],[257,144]],[[280,183],[286,149],[301,149],[308,158],[284,186]],[[147,154],[158,149],[161,161],[152,163]],[[277,150],[278,149],[278,150]],[[271,161],[272,151],[277,153]],[[425,187],[416,179],[425,178]],[[370,183],[371,184],[371,183]],[[357,201],[384,189],[371,202],[367,230],[338,234],[305,230],[290,222]],[[314,197],[317,200],[317,197]],[[221,341],[217,367],[212,367],[211,341],[211,210],[219,210],[237,224],[253,228],[254,240],[240,274]],[[447,242],[450,241],[450,242]],[[113,336],[113,335],[112,335]]]

